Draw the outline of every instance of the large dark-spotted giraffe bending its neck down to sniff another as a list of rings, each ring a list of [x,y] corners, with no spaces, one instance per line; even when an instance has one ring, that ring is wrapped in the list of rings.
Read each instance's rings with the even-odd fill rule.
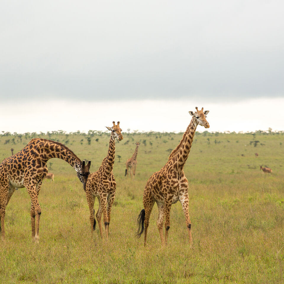
[[[39,242],[39,219],[41,206],[38,194],[41,183],[48,172],[46,163],[51,158],[59,158],[70,164],[77,172],[85,189],[91,161],[85,165],[65,145],[41,138],[32,139],[24,149],[4,159],[0,164],[0,228],[2,240],[5,239],[4,218],[6,206],[18,188],[25,187],[31,198],[30,218],[32,238]],[[36,217],[36,219],[35,219]]]

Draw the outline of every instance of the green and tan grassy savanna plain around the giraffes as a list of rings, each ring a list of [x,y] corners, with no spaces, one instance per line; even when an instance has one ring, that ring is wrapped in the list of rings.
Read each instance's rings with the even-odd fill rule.
[[[182,133],[123,135],[116,143],[117,191],[109,241],[101,240],[98,228],[91,238],[82,184],[69,164],[51,159],[48,167],[54,183],[44,180],[39,195],[39,244],[31,240],[26,190],[16,191],[7,206],[0,283],[283,283],[283,133],[196,133],[184,169],[189,181],[191,249],[180,203],[171,209],[167,247],[160,244],[156,205],[146,248],[142,238],[134,237],[144,186],[167,162]],[[81,159],[92,161],[90,172],[100,166],[109,142],[109,133],[6,133],[0,136],[0,159],[11,155],[11,148],[14,153],[22,149],[33,137],[66,144]],[[141,145],[131,181],[124,176],[125,162],[135,141]],[[272,174],[264,174],[259,165],[272,168]]]

